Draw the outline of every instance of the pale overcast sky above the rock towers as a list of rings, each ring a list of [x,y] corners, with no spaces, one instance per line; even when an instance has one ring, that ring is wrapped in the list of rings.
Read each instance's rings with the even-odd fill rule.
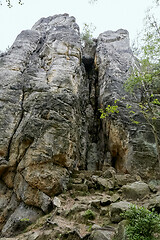
[[[143,26],[146,9],[153,0],[98,0],[94,5],[88,0],[11,0],[13,8],[0,6],[0,50],[11,46],[16,36],[25,29],[30,29],[41,17],[69,13],[76,18],[80,28],[83,23],[96,26],[94,36],[106,30],[127,29],[131,41]],[[160,12],[159,12],[160,15]]]

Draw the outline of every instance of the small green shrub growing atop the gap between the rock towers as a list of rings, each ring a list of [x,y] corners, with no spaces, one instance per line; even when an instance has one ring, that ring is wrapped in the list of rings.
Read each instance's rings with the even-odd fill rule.
[[[90,23],[85,23],[83,26],[83,30],[81,33],[81,40],[82,43],[86,45],[91,45],[93,43],[93,32],[95,31],[96,27]]]

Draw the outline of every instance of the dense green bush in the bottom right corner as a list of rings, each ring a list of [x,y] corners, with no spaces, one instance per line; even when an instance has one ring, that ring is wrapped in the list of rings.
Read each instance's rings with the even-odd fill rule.
[[[126,235],[128,240],[155,240],[160,233],[160,215],[144,207],[131,205],[122,214],[128,221]]]

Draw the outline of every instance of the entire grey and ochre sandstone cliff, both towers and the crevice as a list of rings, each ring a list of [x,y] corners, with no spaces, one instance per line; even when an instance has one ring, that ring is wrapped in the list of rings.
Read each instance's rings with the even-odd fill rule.
[[[123,173],[156,176],[152,133],[130,123],[125,103],[117,118],[99,118],[100,107],[127,99],[123,84],[133,64],[126,30],[105,32],[83,49],[75,18],[67,14],[40,19],[1,54],[3,235],[28,215],[31,223],[48,213],[72,169],[110,164]]]

